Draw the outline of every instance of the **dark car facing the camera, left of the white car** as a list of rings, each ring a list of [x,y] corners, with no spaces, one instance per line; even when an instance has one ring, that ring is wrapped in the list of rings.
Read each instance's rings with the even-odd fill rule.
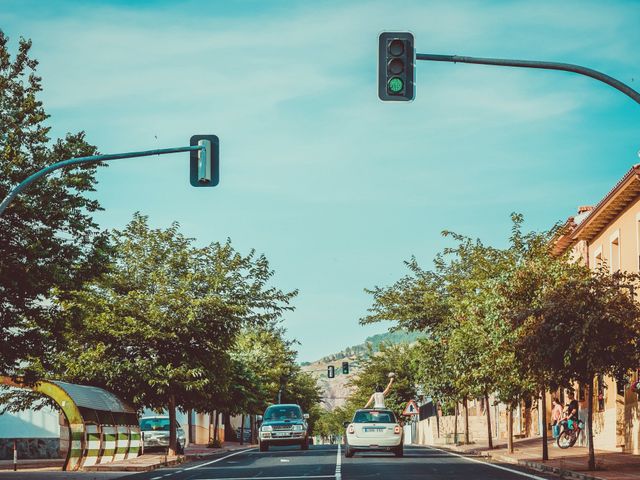
[[[271,445],[300,445],[309,449],[309,415],[302,413],[299,405],[271,405],[264,411],[258,442],[260,451],[266,452]]]

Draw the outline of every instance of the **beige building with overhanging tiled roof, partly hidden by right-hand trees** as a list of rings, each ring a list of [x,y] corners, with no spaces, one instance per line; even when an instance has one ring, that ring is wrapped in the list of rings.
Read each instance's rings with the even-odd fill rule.
[[[562,254],[567,250],[574,260],[592,269],[640,271],[640,164],[595,207],[580,207],[567,220],[554,251]],[[630,379],[638,380],[638,373],[630,372]],[[578,389],[581,416],[586,418],[584,390]],[[594,446],[640,454],[638,395],[629,384],[611,378],[596,379],[594,393]]]

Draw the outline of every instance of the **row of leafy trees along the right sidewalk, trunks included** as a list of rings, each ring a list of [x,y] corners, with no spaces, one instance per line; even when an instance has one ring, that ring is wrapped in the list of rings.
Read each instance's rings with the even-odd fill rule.
[[[508,406],[511,419],[519,402],[537,397],[546,425],[545,392],[576,382],[586,386],[593,469],[594,378],[623,381],[640,364],[639,278],[555,257],[555,229],[525,234],[522,217],[512,220],[502,249],[444,232],[453,246],[436,256],[433,269],[406,262],[408,275],[370,290],[373,305],[361,323],[392,320],[398,329],[423,332],[414,375],[443,405],[461,403],[466,410],[469,399],[488,404],[493,395]],[[486,415],[492,448],[488,408]],[[546,428],[542,447],[547,459]]]

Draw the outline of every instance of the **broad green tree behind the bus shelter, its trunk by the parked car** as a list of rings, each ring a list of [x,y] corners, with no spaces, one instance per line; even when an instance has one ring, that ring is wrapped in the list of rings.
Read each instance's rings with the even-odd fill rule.
[[[229,351],[243,327],[290,310],[296,292],[268,286],[273,271],[264,256],[243,256],[230,241],[197,248],[177,223],[151,229],[135,214],[111,241],[108,272],[58,299],[66,345],[57,371],[138,407],[168,407],[175,451],[175,407],[225,398],[230,379],[246,380],[236,391],[253,391]]]

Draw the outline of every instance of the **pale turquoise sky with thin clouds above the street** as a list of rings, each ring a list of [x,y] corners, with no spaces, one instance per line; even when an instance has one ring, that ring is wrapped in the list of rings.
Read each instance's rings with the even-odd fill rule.
[[[33,41],[52,136],[102,153],[220,138],[220,184],[189,185],[188,154],[112,162],[96,219],[178,221],[198,244],[264,253],[299,289],[283,325],[301,361],[390,324],[372,298],[442,230],[506,245],[597,203],[639,162],[640,105],[564,72],[418,62],[416,98],[377,97],[377,36],[418,53],[584,65],[640,90],[636,1],[0,1],[15,51]]]

